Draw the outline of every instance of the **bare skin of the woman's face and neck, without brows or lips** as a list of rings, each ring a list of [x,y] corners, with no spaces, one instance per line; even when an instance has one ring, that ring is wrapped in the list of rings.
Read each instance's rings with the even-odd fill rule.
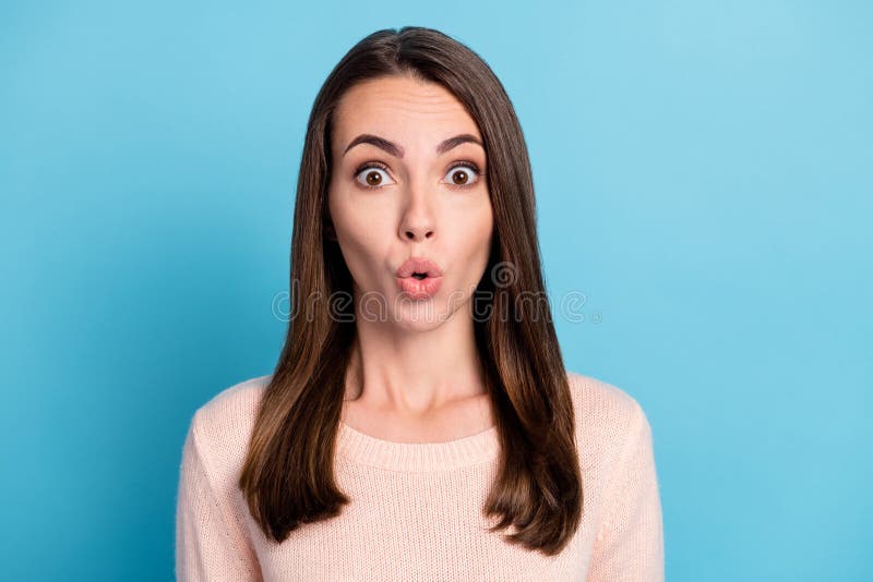
[[[364,133],[396,144],[403,156],[369,143],[346,151]],[[488,160],[475,143],[436,151],[458,134],[482,140],[447,89],[406,76],[352,86],[335,111],[330,232],[354,279],[358,330],[342,419],[376,438],[440,442],[493,424],[470,308],[494,226]],[[356,174],[373,160],[387,169]],[[451,168],[457,161],[473,161],[479,173]],[[443,269],[433,298],[402,294],[395,271],[410,256]]]

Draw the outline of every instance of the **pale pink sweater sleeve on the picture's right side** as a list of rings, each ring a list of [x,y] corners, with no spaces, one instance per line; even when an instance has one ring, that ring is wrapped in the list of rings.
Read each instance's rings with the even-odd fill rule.
[[[651,427],[639,404],[606,494],[588,582],[662,582],[663,529]]]

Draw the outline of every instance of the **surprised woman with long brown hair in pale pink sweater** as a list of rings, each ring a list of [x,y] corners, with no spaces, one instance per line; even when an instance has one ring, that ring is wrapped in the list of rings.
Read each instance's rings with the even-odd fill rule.
[[[470,49],[386,29],[313,105],[270,376],[201,407],[180,580],[663,579],[638,403],[565,371],[521,126]]]

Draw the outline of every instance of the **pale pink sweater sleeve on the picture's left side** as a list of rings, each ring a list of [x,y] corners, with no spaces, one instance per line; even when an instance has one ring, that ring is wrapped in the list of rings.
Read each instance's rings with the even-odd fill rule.
[[[176,580],[261,581],[254,551],[227,495],[210,478],[199,446],[196,415],[182,449],[176,507]]]

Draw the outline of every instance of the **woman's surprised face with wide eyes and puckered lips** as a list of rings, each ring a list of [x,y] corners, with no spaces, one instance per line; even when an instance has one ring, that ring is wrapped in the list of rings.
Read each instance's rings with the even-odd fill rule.
[[[328,207],[355,296],[373,298],[363,316],[434,327],[467,306],[493,215],[482,137],[464,106],[435,83],[368,81],[339,101],[332,140]],[[409,257],[442,270],[435,293],[397,280]]]

